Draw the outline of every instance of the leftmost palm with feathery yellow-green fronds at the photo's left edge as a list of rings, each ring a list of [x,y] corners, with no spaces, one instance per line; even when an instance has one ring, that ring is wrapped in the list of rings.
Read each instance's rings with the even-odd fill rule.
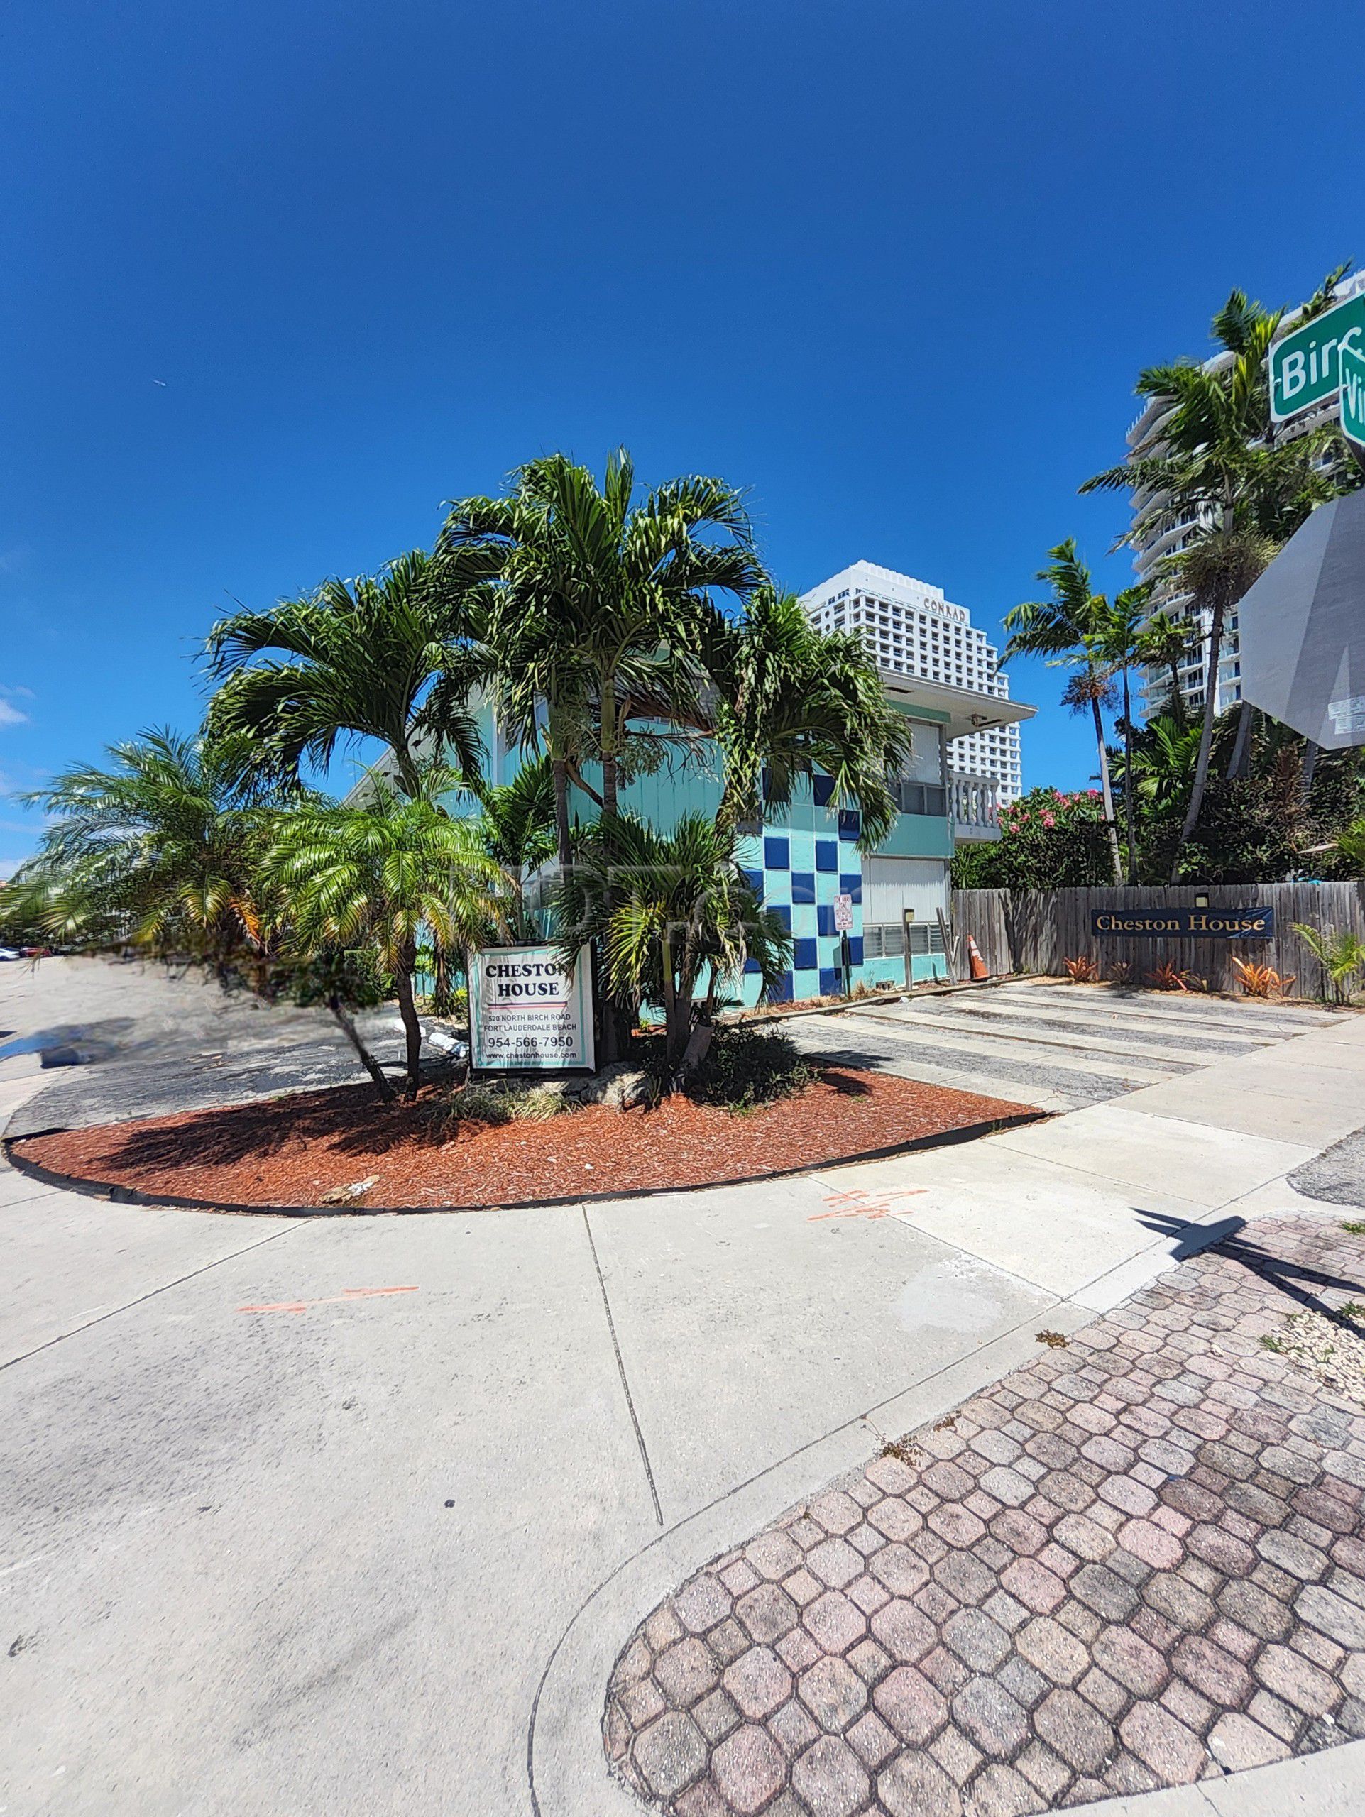
[[[271,905],[256,874],[287,799],[242,734],[144,732],[111,769],[65,770],[24,799],[53,816],[5,896],[64,945],[262,967]]]

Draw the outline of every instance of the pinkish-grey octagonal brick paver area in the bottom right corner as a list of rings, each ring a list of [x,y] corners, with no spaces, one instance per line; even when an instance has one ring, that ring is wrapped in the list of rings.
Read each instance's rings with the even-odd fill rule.
[[[1261,1345],[1365,1241],[1247,1226],[636,1632],[607,1753],[671,1817],[1014,1817],[1365,1735],[1365,1410]]]

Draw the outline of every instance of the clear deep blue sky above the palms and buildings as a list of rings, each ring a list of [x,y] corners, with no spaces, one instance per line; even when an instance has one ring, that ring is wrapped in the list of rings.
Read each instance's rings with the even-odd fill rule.
[[[233,600],[533,452],[752,491],[996,627],[1234,283],[1365,256],[1358,5],[11,0],[0,772],[198,721]],[[1294,58],[1303,74],[1290,80]],[[1350,196],[1356,196],[1356,204]],[[1089,774],[1058,674],[1025,781]],[[0,874],[33,821],[0,803]]]

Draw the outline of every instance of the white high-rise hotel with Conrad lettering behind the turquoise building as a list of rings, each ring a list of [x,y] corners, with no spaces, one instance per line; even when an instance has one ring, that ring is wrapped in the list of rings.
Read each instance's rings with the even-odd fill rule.
[[[965,605],[943,598],[942,587],[854,561],[802,594],[802,605],[820,630],[856,630],[887,674],[1009,700],[994,645],[972,625]],[[989,709],[980,718],[981,730],[949,743],[949,779],[992,783],[996,803],[1007,807],[1023,789],[1020,727],[991,723]]]

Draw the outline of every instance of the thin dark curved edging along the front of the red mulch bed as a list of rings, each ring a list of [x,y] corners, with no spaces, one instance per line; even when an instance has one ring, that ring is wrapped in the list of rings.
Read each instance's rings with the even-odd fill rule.
[[[191,1199],[174,1192],[142,1192],[138,1187],[122,1187],[109,1179],[60,1174],[40,1161],[15,1154],[16,1143],[38,1141],[44,1136],[64,1136],[71,1125],[29,1130],[24,1136],[5,1136],[2,1147],[5,1161],[16,1174],[25,1174],[44,1187],[80,1192],[89,1199],[109,1199],[111,1205],[165,1206],[180,1212],[225,1212],[240,1217],[429,1217],[442,1212],[536,1212],[562,1205],[609,1205],[622,1199],[658,1199],[674,1192],[714,1192],[718,1187],[754,1187],[769,1179],[796,1179],[802,1174],[858,1167],[863,1161],[889,1161],[894,1156],[918,1154],[927,1148],[951,1148],[960,1143],[976,1141],[981,1136],[994,1136],[1000,1130],[1021,1128],[1027,1123],[1047,1123],[1052,1116],[1054,1112],[1051,1110],[1025,1110],[1014,1117],[989,1117],[980,1123],[963,1123],[960,1128],[938,1130],[932,1136],[914,1136],[911,1141],[891,1143],[883,1148],[863,1148],[858,1154],[831,1156],[825,1161],[811,1161],[803,1167],[780,1167],[765,1174],[736,1174],[732,1179],[707,1179],[691,1187],[638,1187],[634,1192],[573,1192],[553,1199],[498,1199],[485,1205],[240,1205],[231,1199]],[[116,1125],[82,1125],[82,1128],[102,1127],[116,1128]]]

